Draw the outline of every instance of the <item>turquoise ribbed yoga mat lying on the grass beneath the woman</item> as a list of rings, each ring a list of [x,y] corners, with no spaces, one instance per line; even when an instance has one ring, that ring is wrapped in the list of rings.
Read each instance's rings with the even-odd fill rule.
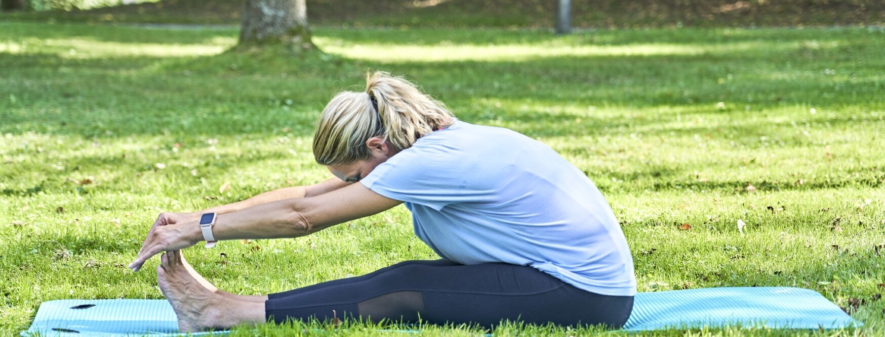
[[[861,323],[809,289],[704,288],[637,294],[624,330],[729,325],[836,329]],[[177,331],[175,313],[165,300],[57,300],[42,303],[34,323],[21,334],[162,336]]]

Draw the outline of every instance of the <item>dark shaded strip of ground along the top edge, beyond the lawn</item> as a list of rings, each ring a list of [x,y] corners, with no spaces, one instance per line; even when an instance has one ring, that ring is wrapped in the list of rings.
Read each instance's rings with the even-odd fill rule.
[[[89,1],[87,1],[89,2]],[[110,2],[108,0],[107,2]],[[551,0],[311,0],[319,26],[551,28]],[[882,26],[879,0],[573,0],[572,26]],[[240,23],[242,0],[146,0],[88,11],[6,14],[18,19],[118,23]],[[0,14],[0,18],[3,18]]]

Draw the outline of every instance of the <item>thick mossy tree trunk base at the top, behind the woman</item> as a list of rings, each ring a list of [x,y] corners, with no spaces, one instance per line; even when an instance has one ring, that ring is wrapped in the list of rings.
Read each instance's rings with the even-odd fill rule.
[[[246,0],[240,45],[285,44],[312,49],[304,0]]]

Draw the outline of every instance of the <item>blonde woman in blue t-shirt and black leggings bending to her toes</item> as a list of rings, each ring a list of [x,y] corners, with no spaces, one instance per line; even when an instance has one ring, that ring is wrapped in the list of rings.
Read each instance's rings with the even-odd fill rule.
[[[165,251],[158,283],[181,332],[288,319],[362,318],[492,327],[622,326],[633,261],[611,208],[581,170],[517,132],[468,124],[409,81],[375,72],[335,95],[313,138],[336,178],[197,213],[161,213],[129,265]],[[441,259],[267,296],[205,281],[179,250],[207,241],[306,236],[404,203]]]

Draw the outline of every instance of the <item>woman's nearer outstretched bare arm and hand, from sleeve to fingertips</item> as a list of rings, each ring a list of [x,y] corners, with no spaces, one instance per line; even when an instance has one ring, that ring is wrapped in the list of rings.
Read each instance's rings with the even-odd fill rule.
[[[219,215],[212,228],[217,240],[306,236],[336,224],[381,213],[402,201],[386,198],[362,183],[310,198],[288,198]],[[150,229],[129,268],[138,271],[144,261],[162,251],[188,248],[203,240],[198,221],[182,221]]]

